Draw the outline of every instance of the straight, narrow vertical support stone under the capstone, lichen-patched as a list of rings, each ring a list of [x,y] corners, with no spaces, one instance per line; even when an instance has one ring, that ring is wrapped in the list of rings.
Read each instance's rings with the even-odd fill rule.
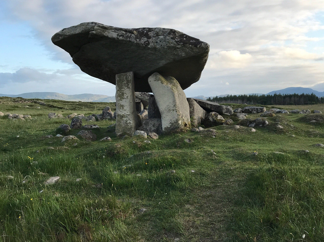
[[[116,135],[132,136],[139,127],[133,71],[116,75]]]

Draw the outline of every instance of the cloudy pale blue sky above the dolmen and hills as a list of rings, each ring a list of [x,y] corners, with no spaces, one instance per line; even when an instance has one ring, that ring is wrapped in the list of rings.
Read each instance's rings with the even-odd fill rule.
[[[324,0],[1,0],[0,94],[114,96],[113,84],[82,72],[51,41],[83,22],[173,28],[207,42],[187,96],[324,91]]]

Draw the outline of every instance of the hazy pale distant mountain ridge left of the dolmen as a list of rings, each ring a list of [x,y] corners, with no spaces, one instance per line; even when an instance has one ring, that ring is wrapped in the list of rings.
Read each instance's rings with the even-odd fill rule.
[[[56,99],[64,101],[82,101],[82,102],[106,102],[112,103],[116,102],[115,96],[98,95],[98,94],[76,94],[76,95],[66,95],[61,93],[53,92],[35,92],[35,93],[22,93],[18,95],[11,94],[0,94],[3,97],[22,97],[22,98],[38,98],[38,99]]]

